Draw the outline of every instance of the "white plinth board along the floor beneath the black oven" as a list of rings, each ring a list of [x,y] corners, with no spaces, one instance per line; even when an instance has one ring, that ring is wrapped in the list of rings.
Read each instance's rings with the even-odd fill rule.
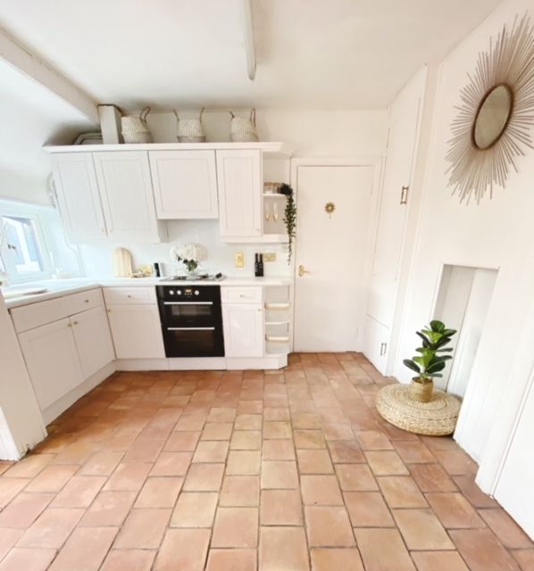
[[[282,368],[288,365],[288,355],[267,355],[265,357],[182,357],[179,359],[118,359],[118,371],[196,371],[196,370],[240,370],[245,368]]]

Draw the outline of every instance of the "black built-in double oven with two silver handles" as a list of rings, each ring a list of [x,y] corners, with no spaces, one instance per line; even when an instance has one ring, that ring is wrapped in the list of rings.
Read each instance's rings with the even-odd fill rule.
[[[157,285],[167,357],[223,357],[221,287]]]

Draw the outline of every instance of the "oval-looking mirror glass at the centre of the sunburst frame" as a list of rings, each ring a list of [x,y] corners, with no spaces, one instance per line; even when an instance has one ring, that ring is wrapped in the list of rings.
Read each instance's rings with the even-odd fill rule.
[[[495,145],[505,132],[513,107],[510,87],[492,87],[480,102],[472,126],[473,144],[481,150]]]

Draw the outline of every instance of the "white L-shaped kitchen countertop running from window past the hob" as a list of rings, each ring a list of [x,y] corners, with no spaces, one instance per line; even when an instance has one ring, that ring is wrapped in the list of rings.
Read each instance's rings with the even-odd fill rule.
[[[31,284],[23,284],[20,287],[42,286],[46,287],[43,294],[21,295],[20,297],[8,297],[5,305],[8,309],[28,305],[29,303],[44,302],[67,294],[85,292],[95,287],[141,287],[155,285],[221,285],[221,287],[246,286],[246,285],[291,285],[291,277],[226,277],[217,282],[199,281],[165,281],[164,277],[103,277],[103,278],[75,278],[75,279],[46,279]],[[16,289],[13,285],[8,291]]]

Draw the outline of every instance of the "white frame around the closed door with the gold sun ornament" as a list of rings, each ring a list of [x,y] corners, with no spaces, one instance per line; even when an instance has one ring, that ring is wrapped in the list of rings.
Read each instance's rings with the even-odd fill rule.
[[[349,156],[349,157],[298,157],[291,159],[291,182],[290,185],[295,193],[295,203],[297,208],[296,213],[296,228],[298,228],[298,169],[300,167],[372,167],[374,169],[373,181],[371,188],[371,223],[368,229],[367,244],[369,245],[369,251],[372,248],[372,237],[376,233],[376,226],[378,223],[379,210],[378,206],[380,204],[380,181],[383,174],[384,157],[377,155],[370,156]],[[298,249],[298,241],[295,240],[293,247],[293,257],[291,260],[291,271],[294,277],[294,287],[292,287],[291,293],[291,307],[293,308],[293,331],[291,332],[291,351],[295,345],[295,295],[296,295],[296,252]],[[365,268],[363,269],[364,282],[365,285],[368,284],[369,278],[371,277],[371,256],[365,261]],[[363,307],[366,307],[366,301],[364,300]],[[360,331],[358,335],[358,347],[357,351],[362,350],[363,342],[363,331]]]

